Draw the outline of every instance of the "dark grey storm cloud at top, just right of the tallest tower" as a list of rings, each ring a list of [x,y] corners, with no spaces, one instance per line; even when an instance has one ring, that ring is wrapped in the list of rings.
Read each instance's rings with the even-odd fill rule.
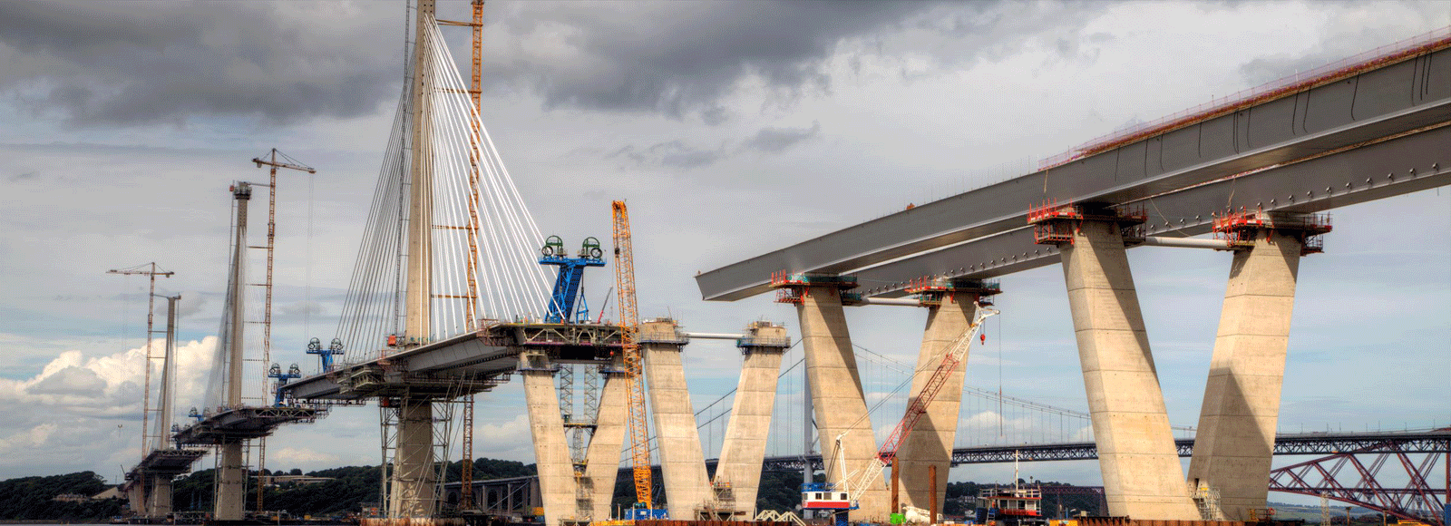
[[[842,39],[869,35],[932,9],[926,1],[666,1],[515,4],[512,38],[548,41],[502,58],[503,78],[525,80],[547,106],[701,112],[746,76],[795,92],[826,89],[823,62]],[[505,7],[508,9],[508,7]],[[531,36],[534,39],[531,39]],[[499,78],[499,77],[496,77]]]

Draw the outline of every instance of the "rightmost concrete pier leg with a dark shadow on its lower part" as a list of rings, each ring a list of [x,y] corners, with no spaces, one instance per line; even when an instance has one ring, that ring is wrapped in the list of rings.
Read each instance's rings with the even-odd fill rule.
[[[1297,235],[1265,230],[1229,267],[1188,468],[1191,484],[1219,493],[1228,520],[1267,507],[1300,250]]]

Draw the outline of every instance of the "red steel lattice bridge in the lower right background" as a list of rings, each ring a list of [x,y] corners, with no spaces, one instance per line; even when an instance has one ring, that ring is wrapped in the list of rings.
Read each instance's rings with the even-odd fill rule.
[[[1451,430],[1451,427],[1438,432]],[[1444,453],[1423,453],[1412,458],[1397,442],[1383,442],[1355,450],[1341,452],[1315,461],[1288,465],[1270,472],[1270,490],[1355,504],[1403,520],[1418,520],[1448,526],[1441,513],[1451,500],[1451,440]],[[1441,459],[1447,471],[1447,495],[1431,487],[1428,478]],[[1394,461],[1394,462],[1392,462]],[[1400,466],[1386,469],[1387,465]],[[1348,469],[1347,469],[1348,468]],[[1390,474],[1381,475],[1381,469]],[[1387,480],[1406,480],[1405,487],[1387,487]]]

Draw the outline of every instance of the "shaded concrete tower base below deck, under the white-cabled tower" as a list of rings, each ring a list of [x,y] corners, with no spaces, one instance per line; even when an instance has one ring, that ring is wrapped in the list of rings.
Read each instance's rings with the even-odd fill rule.
[[[393,480],[389,493],[389,517],[432,517],[437,509],[438,481],[434,471],[434,402],[403,398],[398,408],[398,443],[393,452]]]

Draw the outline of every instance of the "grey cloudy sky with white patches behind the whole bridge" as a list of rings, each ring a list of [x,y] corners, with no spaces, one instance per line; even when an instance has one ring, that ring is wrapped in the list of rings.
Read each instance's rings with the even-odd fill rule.
[[[266,177],[248,160],[273,147],[318,169],[281,176],[274,328],[274,360],[313,368],[302,349],[335,330],[402,86],[403,16],[395,1],[0,3],[0,477],[115,478],[139,456],[145,280],[107,269],[177,272],[160,289],[183,295],[178,405],[200,405],[226,187]],[[467,16],[441,1],[440,17]],[[1451,25],[1451,1],[499,0],[485,19],[483,119],[540,228],[605,237],[608,202],[628,199],[641,314],[731,331],[794,314],[766,296],[702,302],[698,270]],[[444,31],[467,57],[467,32]],[[1451,192],[1339,209],[1335,227],[1302,264],[1281,430],[1445,426]],[[1171,420],[1193,424],[1229,256],[1130,259]],[[598,302],[609,275],[593,276]],[[1003,288],[1001,346],[974,350],[968,384],[1084,410],[1059,270]],[[916,356],[923,311],[849,320],[860,346]],[[688,353],[704,407],[739,355]],[[533,461],[519,407],[518,384],[480,398],[480,456]],[[268,461],[376,464],[377,413],[289,427]],[[1098,481],[1091,464],[1030,469]]]

